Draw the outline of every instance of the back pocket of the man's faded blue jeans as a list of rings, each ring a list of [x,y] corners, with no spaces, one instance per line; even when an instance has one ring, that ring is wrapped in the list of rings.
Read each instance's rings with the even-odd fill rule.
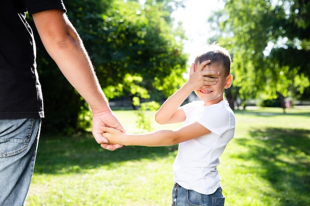
[[[0,157],[10,157],[26,150],[33,119],[0,120]]]

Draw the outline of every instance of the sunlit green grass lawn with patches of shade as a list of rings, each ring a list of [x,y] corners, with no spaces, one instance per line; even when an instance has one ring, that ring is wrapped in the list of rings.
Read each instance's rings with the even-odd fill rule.
[[[128,132],[132,111],[115,111]],[[218,166],[225,206],[310,206],[310,108],[235,111]],[[154,113],[147,116],[154,119]],[[159,125],[154,129],[175,128]],[[169,206],[177,146],[102,149],[90,134],[42,136],[27,206]]]

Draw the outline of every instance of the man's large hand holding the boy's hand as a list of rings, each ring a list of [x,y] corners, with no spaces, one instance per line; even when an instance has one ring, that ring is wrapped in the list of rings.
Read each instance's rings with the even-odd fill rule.
[[[122,132],[126,132],[123,126],[119,123],[119,120],[115,117],[111,110],[93,113],[93,135],[98,144],[104,149],[114,151],[121,148],[123,145],[120,144],[108,144],[108,140],[103,137],[103,126],[113,127]]]

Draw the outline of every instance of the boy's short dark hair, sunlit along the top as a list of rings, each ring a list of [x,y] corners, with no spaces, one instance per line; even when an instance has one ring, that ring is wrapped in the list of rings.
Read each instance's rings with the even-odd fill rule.
[[[205,53],[196,57],[195,64],[200,64],[206,60],[211,60],[210,64],[223,66],[225,76],[230,74],[231,58],[229,52],[225,48],[217,44],[209,45]]]

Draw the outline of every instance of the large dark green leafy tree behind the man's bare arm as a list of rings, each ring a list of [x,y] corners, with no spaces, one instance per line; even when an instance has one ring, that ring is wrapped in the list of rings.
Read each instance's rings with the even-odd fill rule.
[[[174,30],[170,17],[182,1],[64,0],[64,4],[108,99],[162,101],[184,82],[188,58],[183,52],[184,31]],[[72,133],[89,127],[88,105],[57,69],[38,34],[35,38],[46,112],[42,131]]]

